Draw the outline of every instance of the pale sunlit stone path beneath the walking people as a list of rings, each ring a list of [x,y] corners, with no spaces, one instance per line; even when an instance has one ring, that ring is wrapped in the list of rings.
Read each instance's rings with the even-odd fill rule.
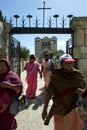
[[[21,73],[21,80],[24,85],[24,93],[27,88],[25,83],[26,72]],[[44,81],[38,76],[38,88],[37,88],[37,98],[29,101],[31,104],[28,109],[20,112],[17,116],[18,128],[17,130],[53,130],[53,118],[51,119],[48,126],[44,125],[44,122],[41,118],[41,113],[44,103],[44,94],[41,92],[44,90]],[[50,103],[51,104],[51,103]],[[50,107],[49,104],[49,107]]]

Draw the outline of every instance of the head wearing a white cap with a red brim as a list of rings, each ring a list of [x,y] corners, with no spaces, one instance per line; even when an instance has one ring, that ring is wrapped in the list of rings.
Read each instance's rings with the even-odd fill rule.
[[[67,69],[67,70],[72,70],[73,68],[73,62],[75,61],[71,55],[69,54],[63,54],[62,56],[59,57],[59,61],[61,64],[61,68]]]

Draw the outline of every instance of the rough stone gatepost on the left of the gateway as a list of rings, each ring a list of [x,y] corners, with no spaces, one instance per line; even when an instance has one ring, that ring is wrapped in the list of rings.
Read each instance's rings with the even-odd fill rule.
[[[0,59],[9,58],[9,32],[11,24],[0,21]]]

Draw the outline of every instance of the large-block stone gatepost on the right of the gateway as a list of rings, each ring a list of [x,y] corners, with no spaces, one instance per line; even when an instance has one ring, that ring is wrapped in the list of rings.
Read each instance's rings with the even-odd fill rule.
[[[70,28],[74,30],[73,56],[87,81],[87,17],[74,17]]]

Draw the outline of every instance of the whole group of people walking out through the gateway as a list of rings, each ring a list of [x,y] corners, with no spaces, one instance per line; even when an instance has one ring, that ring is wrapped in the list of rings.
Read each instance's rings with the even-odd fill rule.
[[[52,53],[46,53],[41,64],[31,54],[25,63],[26,97],[36,98],[38,74],[44,78],[45,100],[42,111],[44,125],[49,125],[54,117],[54,130],[82,130],[84,121],[76,111],[78,96],[87,89],[80,70],[73,67],[75,60],[69,54],[59,57],[60,68],[56,68]],[[20,77],[11,70],[10,61],[0,60],[0,130],[15,130],[17,122],[9,111],[14,94],[21,95],[23,83]],[[50,100],[53,104],[48,111]],[[8,120],[8,122],[6,122]]]

